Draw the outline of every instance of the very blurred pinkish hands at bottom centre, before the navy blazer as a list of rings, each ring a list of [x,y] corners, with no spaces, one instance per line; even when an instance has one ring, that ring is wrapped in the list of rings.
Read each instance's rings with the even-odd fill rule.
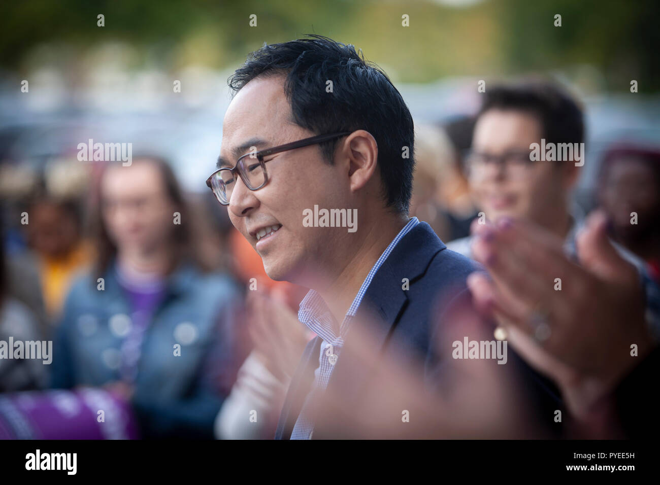
[[[315,439],[490,439],[533,437],[535,431],[510,366],[496,360],[455,360],[452,342],[493,340],[469,301],[454,306],[432,342],[442,356],[440,392],[425,386],[424,366],[411,354],[385,359],[374,344],[373,321],[354,322],[342,358],[368,369],[357,399],[341,388],[317,397]],[[426,382],[428,383],[428,381]],[[337,388],[335,388],[337,389]]]

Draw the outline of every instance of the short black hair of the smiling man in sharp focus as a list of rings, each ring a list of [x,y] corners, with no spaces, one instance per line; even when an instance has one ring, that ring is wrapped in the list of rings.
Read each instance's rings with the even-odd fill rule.
[[[286,75],[284,92],[293,121],[318,135],[364,129],[378,143],[378,166],[386,207],[408,213],[413,189],[413,117],[381,69],[354,46],[327,37],[271,44],[251,53],[228,84],[238,92],[259,76]],[[326,92],[332,81],[333,92]],[[321,145],[332,162],[337,141]],[[409,158],[403,158],[404,146]]]

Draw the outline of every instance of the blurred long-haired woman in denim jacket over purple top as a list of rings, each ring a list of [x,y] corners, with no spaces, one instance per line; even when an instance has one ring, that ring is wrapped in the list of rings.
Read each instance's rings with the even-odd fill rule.
[[[131,403],[143,437],[212,437],[241,364],[233,280],[197,260],[166,162],[109,164],[95,205],[96,261],[65,302],[53,387],[112,391]]]

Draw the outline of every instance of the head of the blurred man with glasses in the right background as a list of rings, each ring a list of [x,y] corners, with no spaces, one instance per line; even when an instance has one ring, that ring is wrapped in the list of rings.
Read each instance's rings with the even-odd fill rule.
[[[530,145],[583,143],[582,110],[548,82],[492,86],[477,115],[466,169],[475,203],[487,220],[531,220],[572,245],[583,216],[570,206],[579,167],[574,160],[537,160]],[[471,257],[471,238],[449,249]]]

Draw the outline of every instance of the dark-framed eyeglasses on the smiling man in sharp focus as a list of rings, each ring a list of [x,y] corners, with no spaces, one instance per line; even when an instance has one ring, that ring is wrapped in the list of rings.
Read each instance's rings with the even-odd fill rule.
[[[266,185],[268,182],[268,172],[266,172],[265,163],[270,160],[264,160],[265,157],[294,150],[295,148],[302,148],[303,146],[314,145],[315,143],[331,141],[350,135],[350,133],[350,131],[341,131],[339,133],[329,133],[328,135],[316,135],[315,137],[292,141],[284,145],[273,146],[273,148],[248,152],[240,156],[236,160],[236,165],[232,168],[222,167],[213,172],[207,178],[207,186],[213,191],[220,204],[229,205],[237,176],[240,176],[246,187],[252,191],[259,190]]]

